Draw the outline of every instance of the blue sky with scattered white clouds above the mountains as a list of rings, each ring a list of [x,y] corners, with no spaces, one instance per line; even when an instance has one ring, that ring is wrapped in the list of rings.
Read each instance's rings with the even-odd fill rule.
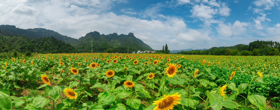
[[[134,33],[155,50],[280,42],[280,0],[0,0],[0,24],[80,38]]]

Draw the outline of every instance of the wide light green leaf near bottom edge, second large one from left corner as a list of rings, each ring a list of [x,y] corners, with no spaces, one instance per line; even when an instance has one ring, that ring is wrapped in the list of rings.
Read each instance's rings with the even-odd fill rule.
[[[38,95],[37,97],[34,98],[34,100],[32,101],[32,103],[30,105],[33,107],[39,108],[39,107],[44,107],[49,102],[50,102],[49,99],[47,99],[41,95]]]

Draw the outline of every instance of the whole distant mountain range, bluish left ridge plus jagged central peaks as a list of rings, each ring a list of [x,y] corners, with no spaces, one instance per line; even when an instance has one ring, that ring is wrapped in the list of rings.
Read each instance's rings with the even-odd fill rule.
[[[129,33],[128,35],[117,35],[116,33],[100,35],[99,32],[94,31],[89,32],[79,39],[74,39],[44,28],[20,29],[13,25],[0,25],[0,34],[10,37],[22,36],[26,39],[38,39],[52,36],[57,40],[69,43],[71,46],[75,47],[78,52],[91,52],[91,50],[93,50],[93,52],[127,53],[127,48],[129,53],[137,50],[154,51],[142,40],[136,38],[133,33]],[[91,47],[92,44],[93,47]],[[27,44],[25,46],[27,46]]]

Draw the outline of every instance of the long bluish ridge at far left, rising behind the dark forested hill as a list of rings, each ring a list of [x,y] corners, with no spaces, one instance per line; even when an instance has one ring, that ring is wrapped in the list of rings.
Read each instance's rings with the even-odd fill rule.
[[[51,37],[61,40],[65,43],[69,43],[72,46],[76,44],[78,39],[74,39],[71,37],[67,37],[65,35],[61,35],[58,32],[44,29],[44,28],[34,28],[34,29],[20,29],[16,28],[12,25],[0,25],[0,34],[5,36],[23,36],[25,38],[44,38]]]

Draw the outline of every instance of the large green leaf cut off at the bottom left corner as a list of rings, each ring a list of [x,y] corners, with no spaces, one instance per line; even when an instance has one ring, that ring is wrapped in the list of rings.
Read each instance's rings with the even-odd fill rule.
[[[10,92],[7,89],[0,91],[0,108],[3,110],[12,109],[12,100],[10,97]]]

